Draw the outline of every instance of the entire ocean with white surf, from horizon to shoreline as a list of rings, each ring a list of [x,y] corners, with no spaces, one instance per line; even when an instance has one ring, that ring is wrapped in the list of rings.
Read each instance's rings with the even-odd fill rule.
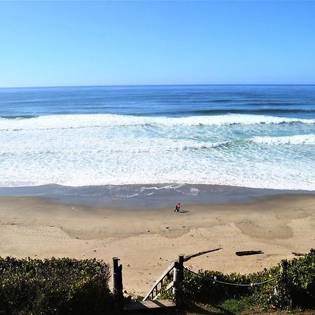
[[[315,191],[314,167],[314,85],[0,89],[0,195]]]

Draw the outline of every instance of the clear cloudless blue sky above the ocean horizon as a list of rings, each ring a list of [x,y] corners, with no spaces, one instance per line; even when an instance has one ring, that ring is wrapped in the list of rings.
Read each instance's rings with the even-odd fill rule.
[[[0,2],[0,87],[315,84],[315,1]]]

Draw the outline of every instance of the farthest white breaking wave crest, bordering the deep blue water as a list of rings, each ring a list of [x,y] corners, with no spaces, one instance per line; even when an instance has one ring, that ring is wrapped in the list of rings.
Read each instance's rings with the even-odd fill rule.
[[[227,114],[218,116],[189,116],[181,118],[170,117],[141,117],[111,114],[97,115],[56,115],[39,116],[27,119],[0,118],[0,130],[53,130],[79,129],[88,127],[116,126],[223,126],[223,125],[256,125],[306,123],[314,124],[315,119],[282,118],[276,116],[260,116],[246,114]]]

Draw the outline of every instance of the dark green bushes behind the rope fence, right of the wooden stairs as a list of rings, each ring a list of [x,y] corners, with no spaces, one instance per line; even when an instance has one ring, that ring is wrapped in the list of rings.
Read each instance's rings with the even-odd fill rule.
[[[211,270],[200,270],[199,276],[185,270],[183,280],[183,295],[186,300],[205,304],[218,304],[229,299],[251,300],[263,309],[302,309],[315,308],[315,250],[300,258],[288,261],[286,274],[281,274],[280,264],[262,272],[253,274],[223,274]],[[298,271],[298,270],[300,271]],[[274,279],[256,285],[269,279]],[[230,286],[211,279],[249,284],[251,286]],[[165,283],[165,286],[167,283]],[[172,297],[169,290],[163,291],[164,297]]]

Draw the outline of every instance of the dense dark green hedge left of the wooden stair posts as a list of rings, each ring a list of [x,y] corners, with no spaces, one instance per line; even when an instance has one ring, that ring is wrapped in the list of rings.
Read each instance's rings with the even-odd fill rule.
[[[0,258],[0,314],[113,314],[102,260]]]

